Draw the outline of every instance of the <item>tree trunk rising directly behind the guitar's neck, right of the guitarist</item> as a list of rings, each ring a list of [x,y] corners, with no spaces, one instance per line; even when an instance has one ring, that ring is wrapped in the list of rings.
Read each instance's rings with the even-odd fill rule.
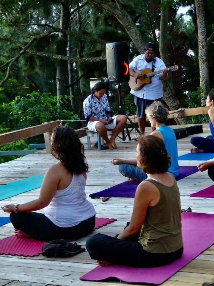
[[[170,66],[169,55],[168,55],[168,6],[166,0],[161,0],[161,26],[160,26],[160,46],[159,51],[161,59],[164,61],[166,66]],[[163,81],[163,99],[169,106],[170,110],[177,110],[180,108],[180,102],[175,96],[174,87],[172,84],[172,75],[169,72],[166,80]],[[180,119],[176,119],[176,122],[180,124]],[[183,121],[182,121],[183,122]]]

